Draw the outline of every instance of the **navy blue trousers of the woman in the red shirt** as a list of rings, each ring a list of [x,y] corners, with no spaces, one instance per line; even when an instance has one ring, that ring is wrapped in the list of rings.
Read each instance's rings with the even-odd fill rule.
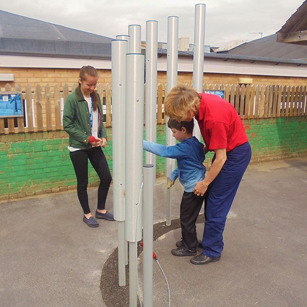
[[[251,146],[246,142],[227,152],[227,161],[208,187],[205,200],[203,254],[210,258],[221,255],[226,217],[234,196],[250,163]],[[214,161],[215,156],[212,161]]]

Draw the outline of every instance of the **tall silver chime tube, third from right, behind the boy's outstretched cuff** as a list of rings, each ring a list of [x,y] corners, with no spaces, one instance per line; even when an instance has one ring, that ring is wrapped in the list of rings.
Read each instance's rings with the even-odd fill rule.
[[[157,86],[158,86],[158,21],[146,21],[146,83],[145,83],[145,139],[157,141]],[[156,181],[156,155],[146,151],[145,163],[153,164]]]

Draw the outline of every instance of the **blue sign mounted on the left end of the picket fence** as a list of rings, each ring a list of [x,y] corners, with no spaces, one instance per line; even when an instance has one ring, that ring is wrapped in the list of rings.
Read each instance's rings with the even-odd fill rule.
[[[0,117],[23,117],[21,93],[6,92],[0,94]]]

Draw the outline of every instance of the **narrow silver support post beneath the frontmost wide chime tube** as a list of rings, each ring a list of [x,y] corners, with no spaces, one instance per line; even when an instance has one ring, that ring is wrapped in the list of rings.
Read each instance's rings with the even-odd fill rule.
[[[129,307],[137,307],[138,304],[136,245],[136,242],[129,242]]]

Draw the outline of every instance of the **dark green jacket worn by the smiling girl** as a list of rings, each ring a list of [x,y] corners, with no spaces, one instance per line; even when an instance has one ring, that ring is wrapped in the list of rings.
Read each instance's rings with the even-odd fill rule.
[[[99,95],[94,92],[98,100],[98,137],[107,139],[102,120],[102,107]],[[69,134],[69,145],[74,148],[90,149],[89,137],[92,135],[89,106],[84,99],[80,87],[70,94],[65,102],[63,113],[63,128]]]

